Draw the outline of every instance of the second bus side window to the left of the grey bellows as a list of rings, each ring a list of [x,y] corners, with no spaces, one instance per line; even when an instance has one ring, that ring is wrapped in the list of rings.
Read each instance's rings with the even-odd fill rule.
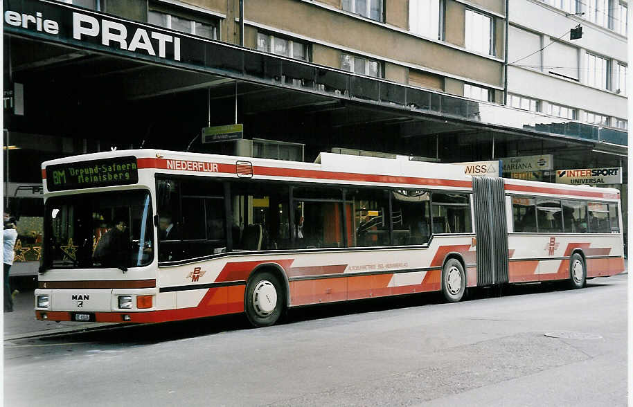
[[[431,237],[429,192],[397,190],[391,192],[393,240],[398,246],[427,244]]]

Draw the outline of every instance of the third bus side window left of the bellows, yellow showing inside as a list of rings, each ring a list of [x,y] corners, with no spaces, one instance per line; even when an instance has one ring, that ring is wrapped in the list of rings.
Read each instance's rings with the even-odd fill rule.
[[[351,212],[353,212],[354,234],[349,246],[389,246],[391,244],[389,195],[386,190],[347,190],[346,204],[353,208]]]

